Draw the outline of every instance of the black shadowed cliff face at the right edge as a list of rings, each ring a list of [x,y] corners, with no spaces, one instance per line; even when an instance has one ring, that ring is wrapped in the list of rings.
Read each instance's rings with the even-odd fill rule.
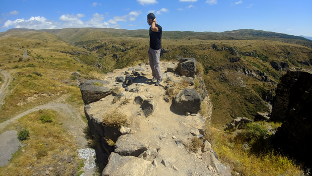
[[[270,120],[282,122],[276,133],[279,146],[308,161],[312,154],[312,72],[292,69],[280,80]]]

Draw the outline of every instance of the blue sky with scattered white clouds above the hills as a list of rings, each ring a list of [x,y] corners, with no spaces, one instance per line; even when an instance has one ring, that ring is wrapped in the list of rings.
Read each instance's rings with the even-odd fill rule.
[[[165,31],[256,29],[312,36],[311,0],[0,0],[0,32],[11,28],[148,29],[150,12]]]

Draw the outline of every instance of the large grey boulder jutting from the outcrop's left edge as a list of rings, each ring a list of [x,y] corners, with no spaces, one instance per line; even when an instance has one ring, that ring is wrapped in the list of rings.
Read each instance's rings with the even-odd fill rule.
[[[112,91],[108,87],[103,86],[106,84],[109,84],[109,82],[104,80],[85,81],[80,89],[85,104],[91,103],[95,100],[99,100],[111,94]]]

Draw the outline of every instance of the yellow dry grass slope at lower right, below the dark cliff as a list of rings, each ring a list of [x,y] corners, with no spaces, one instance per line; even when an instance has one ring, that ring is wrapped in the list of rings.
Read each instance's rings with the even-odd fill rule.
[[[212,144],[219,160],[229,165],[233,172],[242,175],[301,175],[302,170],[287,156],[269,152],[253,154],[242,149],[240,141],[234,140],[231,133],[206,125],[205,138]],[[260,156],[259,156],[260,155]]]

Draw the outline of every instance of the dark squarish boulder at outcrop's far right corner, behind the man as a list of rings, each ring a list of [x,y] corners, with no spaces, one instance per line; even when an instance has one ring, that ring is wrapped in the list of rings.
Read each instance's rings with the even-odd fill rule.
[[[181,58],[178,64],[178,70],[181,75],[192,77],[196,72],[196,60],[192,58]]]

